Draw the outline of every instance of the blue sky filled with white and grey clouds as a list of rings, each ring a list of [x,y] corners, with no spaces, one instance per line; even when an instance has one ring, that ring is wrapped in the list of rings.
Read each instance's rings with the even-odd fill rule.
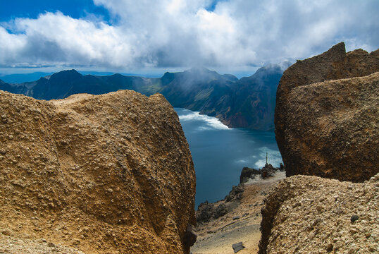
[[[249,72],[344,41],[379,47],[378,0],[0,0],[0,73]]]

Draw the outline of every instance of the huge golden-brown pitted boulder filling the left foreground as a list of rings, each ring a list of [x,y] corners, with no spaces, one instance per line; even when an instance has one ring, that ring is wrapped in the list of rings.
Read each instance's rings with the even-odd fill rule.
[[[189,252],[194,167],[162,95],[37,101],[0,91],[0,107],[0,242],[25,242],[0,251],[46,241],[84,253]]]

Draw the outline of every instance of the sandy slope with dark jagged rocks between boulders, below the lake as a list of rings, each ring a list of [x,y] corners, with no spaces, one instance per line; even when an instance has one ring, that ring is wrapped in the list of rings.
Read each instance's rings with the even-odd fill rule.
[[[271,176],[262,177],[266,169],[273,169]],[[247,171],[256,174],[248,177]],[[195,228],[197,242],[191,248],[192,254],[232,253],[232,245],[240,242],[244,248],[238,253],[257,253],[263,199],[284,178],[285,171],[271,164],[263,169],[242,169],[240,179],[243,181],[233,186],[223,200],[199,205]]]

